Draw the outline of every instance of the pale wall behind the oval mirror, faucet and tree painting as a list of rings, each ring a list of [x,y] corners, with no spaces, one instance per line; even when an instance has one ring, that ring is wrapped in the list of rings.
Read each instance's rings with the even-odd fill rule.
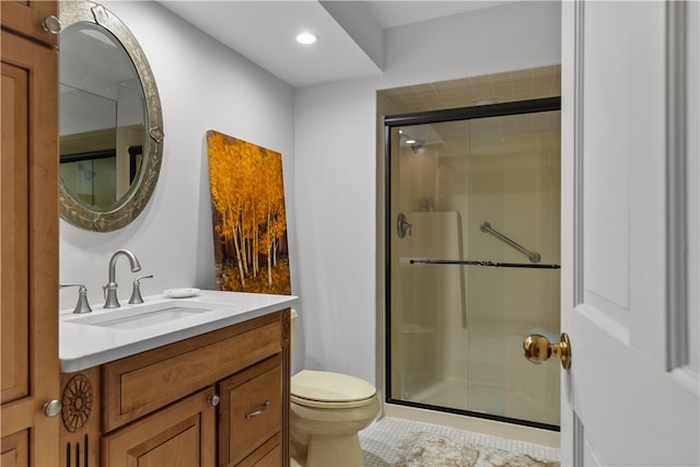
[[[214,288],[206,132],[220,132],[282,153],[288,205],[294,205],[294,89],[248,59],[150,1],[104,3],[143,48],[163,107],[163,165],[152,200],[132,224],[91,233],[60,221],[60,280],[84,282],[90,302],[104,302],[107,264],[118,248],[131,249],[142,271],[144,295],[176,287]],[[294,261],[294,210],[289,209]],[[117,264],[119,297],[128,300],[133,273]],[[299,272],[292,269],[293,281]],[[60,292],[61,307],[75,290]]]

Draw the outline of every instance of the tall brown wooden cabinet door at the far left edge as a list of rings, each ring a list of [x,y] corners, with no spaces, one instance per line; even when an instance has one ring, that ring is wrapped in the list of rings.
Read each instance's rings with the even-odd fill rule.
[[[1,34],[2,465],[54,466],[60,417],[42,407],[60,399],[57,52]]]

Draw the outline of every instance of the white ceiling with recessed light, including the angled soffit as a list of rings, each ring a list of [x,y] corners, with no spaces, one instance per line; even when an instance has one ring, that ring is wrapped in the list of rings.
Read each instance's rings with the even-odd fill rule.
[[[381,73],[385,28],[510,1],[159,2],[283,81],[304,86]],[[315,33],[318,42],[298,44],[301,31]]]

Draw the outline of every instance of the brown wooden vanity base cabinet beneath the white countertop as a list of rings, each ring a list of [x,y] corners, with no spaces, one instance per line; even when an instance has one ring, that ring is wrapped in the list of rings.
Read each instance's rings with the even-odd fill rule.
[[[78,457],[67,466],[288,466],[289,316],[276,312],[102,365],[93,376],[100,421],[63,433],[65,457]],[[85,435],[101,443],[83,442],[75,456]]]

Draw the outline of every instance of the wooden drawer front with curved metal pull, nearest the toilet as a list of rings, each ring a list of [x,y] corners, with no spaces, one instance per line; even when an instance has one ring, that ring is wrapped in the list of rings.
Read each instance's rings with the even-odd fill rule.
[[[219,384],[220,464],[235,465],[282,427],[281,354]]]

